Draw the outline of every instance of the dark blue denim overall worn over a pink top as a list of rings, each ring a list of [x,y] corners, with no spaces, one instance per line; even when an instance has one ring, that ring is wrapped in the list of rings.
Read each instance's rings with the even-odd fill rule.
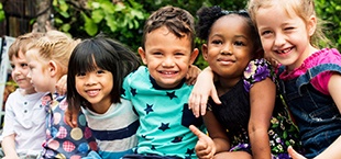
[[[283,70],[279,68],[279,73]],[[280,80],[280,91],[299,128],[307,158],[322,152],[341,135],[341,115],[336,103],[310,83],[317,75],[329,70],[341,73],[341,66],[321,64],[298,78]]]

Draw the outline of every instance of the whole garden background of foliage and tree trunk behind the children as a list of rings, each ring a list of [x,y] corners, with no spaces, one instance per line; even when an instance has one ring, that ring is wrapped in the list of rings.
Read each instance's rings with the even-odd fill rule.
[[[241,10],[246,3],[248,0],[0,0],[0,36],[16,37],[33,29],[44,32],[44,24],[48,21],[55,30],[75,38],[91,37],[102,32],[138,50],[144,21],[161,7],[172,4],[196,15],[202,5]],[[324,33],[331,41],[331,47],[341,50],[341,0],[315,0],[315,3],[318,18],[326,22]],[[196,39],[198,48],[200,43]],[[205,68],[207,63],[199,56],[195,65]],[[4,93],[15,88],[11,81],[0,84],[7,87]]]

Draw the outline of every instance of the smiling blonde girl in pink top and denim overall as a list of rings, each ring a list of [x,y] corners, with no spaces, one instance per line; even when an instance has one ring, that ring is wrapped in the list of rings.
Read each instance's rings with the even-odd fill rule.
[[[322,34],[312,0],[251,0],[249,10],[265,53],[282,64],[279,87],[314,158],[341,135],[341,55],[316,47]]]

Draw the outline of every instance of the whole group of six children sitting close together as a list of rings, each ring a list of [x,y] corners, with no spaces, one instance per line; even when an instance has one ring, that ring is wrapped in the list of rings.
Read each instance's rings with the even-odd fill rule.
[[[158,9],[144,25],[143,66],[105,36],[18,37],[4,158],[340,158],[341,55],[312,43],[314,1],[248,5],[202,8],[196,25],[184,9]],[[200,73],[195,33],[209,64]]]

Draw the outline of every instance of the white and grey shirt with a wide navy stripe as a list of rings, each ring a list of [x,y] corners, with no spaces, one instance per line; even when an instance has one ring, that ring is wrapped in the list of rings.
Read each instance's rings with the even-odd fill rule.
[[[119,159],[133,152],[140,123],[130,101],[121,99],[121,103],[112,103],[105,114],[89,109],[82,109],[82,112],[98,143],[101,158]]]

